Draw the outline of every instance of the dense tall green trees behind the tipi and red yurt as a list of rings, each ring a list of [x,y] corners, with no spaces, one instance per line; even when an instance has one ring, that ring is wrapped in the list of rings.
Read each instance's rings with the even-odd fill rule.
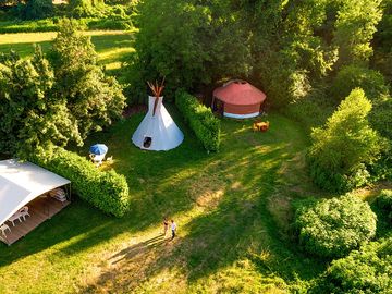
[[[131,82],[209,88],[246,77],[282,107],[343,65],[367,66],[381,0],[144,1]]]

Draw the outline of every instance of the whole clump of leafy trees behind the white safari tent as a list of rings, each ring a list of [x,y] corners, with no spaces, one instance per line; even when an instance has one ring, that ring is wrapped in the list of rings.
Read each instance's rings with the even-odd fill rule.
[[[89,37],[64,20],[46,57],[0,56],[0,152],[27,158],[118,119],[125,106],[121,85],[97,65]]]

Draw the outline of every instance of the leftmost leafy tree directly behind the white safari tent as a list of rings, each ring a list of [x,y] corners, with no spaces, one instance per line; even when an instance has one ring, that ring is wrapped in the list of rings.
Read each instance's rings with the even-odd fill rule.
[[[36,47],[32,59],[15,53],[0,56],[0,151],[26,158],[81,143],[66,101],[54,98],[53,71]]]

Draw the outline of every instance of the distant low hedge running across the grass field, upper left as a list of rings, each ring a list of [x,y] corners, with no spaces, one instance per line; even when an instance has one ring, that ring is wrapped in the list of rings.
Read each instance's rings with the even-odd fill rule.
[[[133,25],[131,20],[110,20],[110,19],[81,19],[77,22],[88,30],[94,29],[115,29],[131,30]],[[0,34],[11,33],[37,33],[37,32],[58,32],[58,20],[47,19],[39,21],[17,21],[0,22]]]

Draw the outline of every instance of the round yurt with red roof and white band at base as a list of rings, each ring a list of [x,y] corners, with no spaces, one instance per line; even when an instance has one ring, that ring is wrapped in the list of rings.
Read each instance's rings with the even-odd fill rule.
[[[266,94],[246,81],[231,81],[213,90],[212,109],[221,109],[228,118],[255,118],[266,98]]]

